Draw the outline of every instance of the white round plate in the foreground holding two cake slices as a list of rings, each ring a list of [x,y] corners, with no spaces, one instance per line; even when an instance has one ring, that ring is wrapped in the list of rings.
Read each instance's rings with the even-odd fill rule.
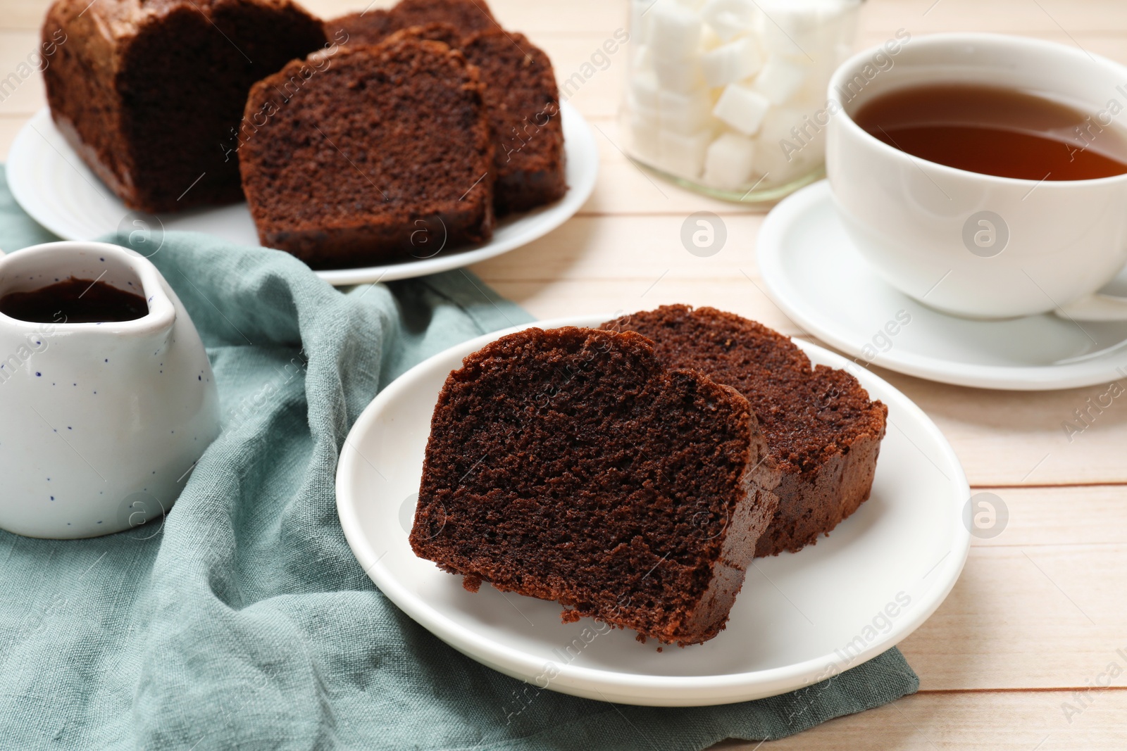
[[[529,325],[598,325],[613,316]],[[869,660],[939,607],[962,570],[966,476],[931,420],[900,392],[828,350],[796,341],[815,363],[851,367],[888,405],[872,495],[828,537],[748,570],[727,628],[700,645],[640,644],[635,632],[482,585],[418,558],[407,542],[431,413],[462,358],[526,327],[479,337],[417,365],[364,410],[337,466],[337,512],[372,581],[455,650],[533,683],[591,699],[649,706],[728,704],[783,694]],[[889,615],[893,614],[893,615]]]

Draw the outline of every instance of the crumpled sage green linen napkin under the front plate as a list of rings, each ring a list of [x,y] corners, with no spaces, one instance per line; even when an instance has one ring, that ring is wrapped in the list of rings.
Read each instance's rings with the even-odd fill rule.
[[[0,180],[0,248],[48,239]],[[479,665],[364,574],[334,473],[381,387],[527,313],[461,270],[343,294],[286,253],[203,234],[167,234],[152,261],[207,346],[223,432],[162,524],[66,542],[0,531],[0,746],[704,749],[919,687],[895,649],[802,691],[689,709]]]

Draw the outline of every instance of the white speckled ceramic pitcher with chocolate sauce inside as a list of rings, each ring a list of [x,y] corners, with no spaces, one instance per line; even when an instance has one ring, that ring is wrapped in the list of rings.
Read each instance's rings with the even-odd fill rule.
[[[219,436],[199,334],[160,272],[107,243],[0,258],[0,297],[69,277],[144,296],[133,321],[33,323],[0,313],[0,527],[95,537],[167,511]]]

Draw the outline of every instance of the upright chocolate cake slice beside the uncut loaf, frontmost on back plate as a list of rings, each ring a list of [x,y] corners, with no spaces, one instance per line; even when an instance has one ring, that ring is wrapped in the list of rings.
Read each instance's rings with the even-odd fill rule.
[[[481,84],[446,45],[403,38],[295,60],[255,84],[246,111],[260,125],[239,161],[264,245],[343,268],[491,236]]]

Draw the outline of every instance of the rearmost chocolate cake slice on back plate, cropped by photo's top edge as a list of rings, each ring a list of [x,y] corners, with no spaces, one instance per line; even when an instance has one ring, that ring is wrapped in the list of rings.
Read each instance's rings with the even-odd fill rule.
[[[387,10],[365,10],[332,18],[325,21],[325,30],[331,37],[344,29],[348,44],[379,44],[392,32],[434,21],[450,24],[463,35],[500,28],[485,0],[401,0]]]

